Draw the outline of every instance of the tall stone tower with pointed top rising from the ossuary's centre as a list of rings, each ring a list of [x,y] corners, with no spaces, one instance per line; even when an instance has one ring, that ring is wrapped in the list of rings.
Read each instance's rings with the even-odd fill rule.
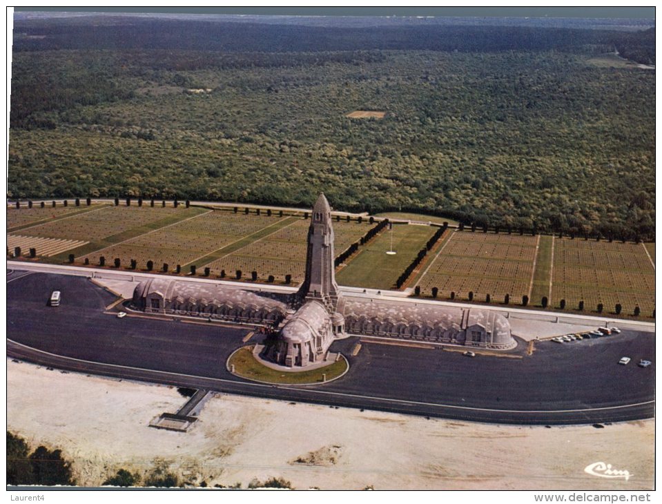
[[[322,193],[313,206],[311,225],[308,229],[306,279],[299,289],[299,295],[306,301],[321,301],[329,313],[333,313],[338,305],[334,259],[331,207],[327,197]]]

